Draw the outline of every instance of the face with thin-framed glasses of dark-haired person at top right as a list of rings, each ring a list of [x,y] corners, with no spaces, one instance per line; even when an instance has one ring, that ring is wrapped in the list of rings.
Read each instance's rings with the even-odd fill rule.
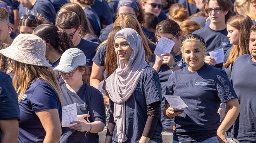
[[[208,5],[208,9],[220,8],[217,0],[210,0]],[[227,13],[228,11],[223,12],[223,10],[220,10],[220,12],[215,12],[215,10],[212,10],[211,12],[208,12],[208,16],[211,19],[211,23],[220,24],[225,23],[225,15],[227,15]]]

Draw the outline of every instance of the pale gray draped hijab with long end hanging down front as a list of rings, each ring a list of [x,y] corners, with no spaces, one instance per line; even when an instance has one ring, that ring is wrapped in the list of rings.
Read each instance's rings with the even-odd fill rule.
[[[114,40],[124,38],[133,49],[131,57],[125,63],[117,56],[118,68],[106,81],[106,91],[114,102],[114,122],[116,122],[118,142],[125,142],[125,101],[133,94],[140,76],[147,66],[145,62],[145,50],[140,35],[131,28],[125,28],[116,33]]]

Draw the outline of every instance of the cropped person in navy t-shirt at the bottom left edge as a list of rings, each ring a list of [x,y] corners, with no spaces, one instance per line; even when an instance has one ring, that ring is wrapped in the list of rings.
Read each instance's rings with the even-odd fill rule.
[[[20,111],[12,79],[0,71],[0,142],[17,143]]]

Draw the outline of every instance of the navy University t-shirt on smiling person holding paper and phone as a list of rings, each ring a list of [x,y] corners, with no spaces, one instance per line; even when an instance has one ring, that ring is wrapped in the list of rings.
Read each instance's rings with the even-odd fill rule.
[[[206,63],[197,71],[188,71],[189,65],[173,72],[166,85],[167,95],[177,95],[187,104],[184,112],[175,116],[173,140],[199,142],[216,136],[220,126],[217,113],[220,103],[237,98],[222,69]]]

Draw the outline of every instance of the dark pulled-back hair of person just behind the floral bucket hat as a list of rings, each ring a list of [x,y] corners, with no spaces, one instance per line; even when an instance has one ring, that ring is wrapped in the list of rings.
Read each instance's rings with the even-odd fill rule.
[[[58,50],[60,53],[65,52],[69,48],[74,48],[74,44],[70,39],[70,36],[64,30],[58,30],[53,24],[42,24],[35,28],[35,35],[42,38]]]

